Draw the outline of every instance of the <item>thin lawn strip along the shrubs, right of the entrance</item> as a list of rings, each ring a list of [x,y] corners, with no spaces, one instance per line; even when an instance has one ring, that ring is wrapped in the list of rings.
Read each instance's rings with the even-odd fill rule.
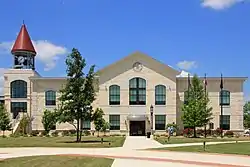
[[[161,136],[161,137],[155,137],[155,140],[158,141],[161,144],[180,144],[180,143],[199,143],[203,141],[207,142],[218,142],[218,141],[241,141],[241,140],[249,140],[248,137],[241,137],[241,138],[186,138],[186,137],[171,137],[170,141],[168,142],[168,138]]]

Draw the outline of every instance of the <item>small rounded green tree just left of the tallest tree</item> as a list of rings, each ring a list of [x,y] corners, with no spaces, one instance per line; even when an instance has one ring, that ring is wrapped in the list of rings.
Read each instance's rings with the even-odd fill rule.
[[[57,113],[50,110],[44,110],[42,117],[42,124],[45,132],[48,134],[53,127],[56,126]]]

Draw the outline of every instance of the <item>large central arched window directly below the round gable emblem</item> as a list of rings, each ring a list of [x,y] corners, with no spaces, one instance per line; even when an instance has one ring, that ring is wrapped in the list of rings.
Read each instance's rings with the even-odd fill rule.
[[[146,80],[143,78],[132,78],[129,80],[129,104],[146,104]]]

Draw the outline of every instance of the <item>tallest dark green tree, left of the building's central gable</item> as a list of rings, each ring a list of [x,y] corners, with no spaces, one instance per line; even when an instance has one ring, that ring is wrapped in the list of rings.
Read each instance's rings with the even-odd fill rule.
[[[86,63],[80,52],[73,48],[66,59],[67,82],[60,90],[60,106],[57,111],[58,122],[68,122],[76,128],[77,142],[81,141],[82,121],[91,119],[92,106],[95,100],[94,79],[95,66],[91,66],[89,73],[83,72]],[[77,125],[75,125],[75,121]]]

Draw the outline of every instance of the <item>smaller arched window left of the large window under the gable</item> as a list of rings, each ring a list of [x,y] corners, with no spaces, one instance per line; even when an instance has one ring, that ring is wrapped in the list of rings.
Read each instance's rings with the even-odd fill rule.
[[[120,86],[111,85],[109,87],[109,105],[120,105]]]

